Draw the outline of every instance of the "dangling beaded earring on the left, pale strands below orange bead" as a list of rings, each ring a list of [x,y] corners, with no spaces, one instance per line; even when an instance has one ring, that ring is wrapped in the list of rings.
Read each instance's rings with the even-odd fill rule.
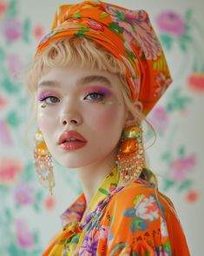
[[[44,187],[49,188],[49,192],[52,194],[52,188],[55,186],[52,158],[40,129],[36,131],[35,143],[34,164],[38,179]]]

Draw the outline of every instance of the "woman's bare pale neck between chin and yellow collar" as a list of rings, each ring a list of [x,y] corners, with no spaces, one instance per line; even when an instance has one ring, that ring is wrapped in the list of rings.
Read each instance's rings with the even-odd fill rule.
[[[99,162],[76,169],[82,184],[87,206],[101,185],[102,180],[105,179],[109,172],[115,167],[115,158],[116,151],[109,154],[107,158],[101,159]]]

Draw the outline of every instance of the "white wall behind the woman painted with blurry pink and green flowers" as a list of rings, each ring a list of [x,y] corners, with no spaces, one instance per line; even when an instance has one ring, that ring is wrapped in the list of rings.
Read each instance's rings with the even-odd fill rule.
[[[55,163],[49,196],[32,164],[36,125],[21,74],[49,29],[59,1],[0,0],[0,255],[40,255],[61,229],[58,216],[81,192],[73,171]],[[69,1],[76,3],[77,1]],[[148,163],[174,202],[192,255],[204,230],[204,3],[201,0],[107,1],[148,11],[174,83],[148,115],[157,132]],[[137,2],[137,3],[136,3]],[[66,3],[63,1],[61,3]],[[146,134],[147,147],[150,132]]]

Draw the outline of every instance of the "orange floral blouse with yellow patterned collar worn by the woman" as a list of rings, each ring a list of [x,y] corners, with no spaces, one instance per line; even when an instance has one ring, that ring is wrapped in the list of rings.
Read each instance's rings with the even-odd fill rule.
[[[63,232],[43,256],[188,256],[174,205],[143,179],[118,185],[115,167],[90,202],[83,194],[63,213]]]

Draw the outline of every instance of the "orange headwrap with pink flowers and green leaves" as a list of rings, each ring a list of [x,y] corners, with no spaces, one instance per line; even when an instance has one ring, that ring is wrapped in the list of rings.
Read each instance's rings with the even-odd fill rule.
[[[97,0],[62,5],[36,57],[56,39],[86,37],[101,44],[126,67],[132,100],[147,115],[172,82],[161,44],[144,10],[128,10]]]

